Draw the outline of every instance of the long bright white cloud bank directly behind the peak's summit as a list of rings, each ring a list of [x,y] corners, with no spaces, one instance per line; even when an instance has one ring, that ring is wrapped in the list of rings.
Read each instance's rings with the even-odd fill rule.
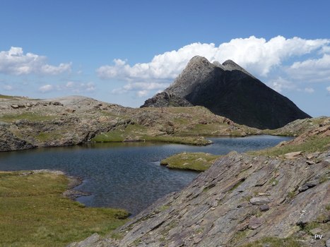
[[[119,78],[124,80],[171,80],[187,65],[191,57],[205,56],[209,61],[223,62],[232,59],[256,76],[266,76],[271,68],[279,66],[293,56],[301,56],[321,49],[330,40],[304,40],[299,37],[285,39],[277,36],[266,41],[254,36],[233,39],[220,44],[193,43],[177,51],[154,56],[148,63],[127,64],[122,59],[114,59],[114,65],[98,68],[100,78]]]

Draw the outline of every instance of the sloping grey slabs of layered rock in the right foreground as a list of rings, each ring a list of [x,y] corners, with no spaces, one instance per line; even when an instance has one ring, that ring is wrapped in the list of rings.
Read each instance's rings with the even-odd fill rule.
[[[94,234],[71,246],[240,246],[265,236],[324,246],[330,239],[330,150],[305,156],[232,152],[118,229],[120,240]]]

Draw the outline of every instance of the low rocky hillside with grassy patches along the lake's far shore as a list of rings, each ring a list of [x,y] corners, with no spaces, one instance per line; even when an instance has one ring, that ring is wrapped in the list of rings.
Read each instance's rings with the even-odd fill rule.
[[[203,135],[255,133],[204,107],[133,109],[80,96],[33,100],[0,95],[0,151],[90,141],[206,145]]]

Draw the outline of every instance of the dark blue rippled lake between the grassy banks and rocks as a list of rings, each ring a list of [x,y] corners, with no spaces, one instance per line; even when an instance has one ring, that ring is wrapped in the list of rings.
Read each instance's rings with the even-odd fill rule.
[[[135,215],[167,193],[179,191],[198,173],[170,170],[160,160],[179,152],[223,155],[271,147],[290,138],[271,135],[209,138],[212,145],[196,147],[160,143],[94,143],[18,152],[0,152],[0,170],[57,169],[83,179],[78,198],[86,206],[119,207]]]

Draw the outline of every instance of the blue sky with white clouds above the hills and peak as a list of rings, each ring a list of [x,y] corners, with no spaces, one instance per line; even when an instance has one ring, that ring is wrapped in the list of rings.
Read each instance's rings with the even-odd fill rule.
[[[0,94],[139,107],[195,55],[330,116],[330,2],[0,0]]]

